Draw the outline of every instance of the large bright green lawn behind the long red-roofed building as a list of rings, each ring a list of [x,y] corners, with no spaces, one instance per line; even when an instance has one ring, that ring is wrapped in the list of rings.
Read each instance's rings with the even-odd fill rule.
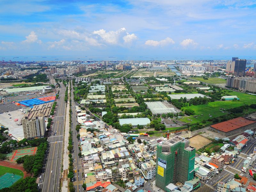
[[[223,110],[220,111],[220,108],[224,108],[227,110],[230,108],[240,107],[245,104],[247,105],[256,104],[256,95],[248,95],[241,92],[229,92],[229,94],[236,95],[240,99],[240,101],[214,101],[214,102],[208,103],[207,105],[196,105],[196,106],[191,105],[189,107],[183,107],[183,109],[186,109],[186,108],[193,109],[195,111],[195,115],[199,115],[199,116],[197,118],[189,117],[189,119],[192,119],[192,121],[187,120],[186,117],[180,120],[184,122],[190,122],[190,123],[197,123],[197,122],[200,123],[202,120],[207,120],[209,118],[227,115],[227,113],[222,113]],[[254,110],[250,108],[245,112],[252,113],[254,112]],[[209,117],[209,114],[211,114],[212,117]]]

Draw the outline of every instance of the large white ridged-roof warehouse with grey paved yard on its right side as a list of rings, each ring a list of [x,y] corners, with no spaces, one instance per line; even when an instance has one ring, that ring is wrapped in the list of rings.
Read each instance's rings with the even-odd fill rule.
[[[153,101],[153,102],[145,102],[145,104],[150,109],[153,115],[162,115],[167,113],[176,114],[177,111],[174,108],[167,107],[166,105],[169,104],[168,102],[161,102],[161,101]],[[165,104],[165,105],[164,105]]]

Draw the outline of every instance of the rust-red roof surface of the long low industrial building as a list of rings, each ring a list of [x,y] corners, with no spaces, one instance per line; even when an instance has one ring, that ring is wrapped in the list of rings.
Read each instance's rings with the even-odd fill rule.
[[[229,132],[253,123],[255,123],[255,121],[251,121],[243,117],[238,117],[229,121],[211,125],[211,127],[223,132]]]

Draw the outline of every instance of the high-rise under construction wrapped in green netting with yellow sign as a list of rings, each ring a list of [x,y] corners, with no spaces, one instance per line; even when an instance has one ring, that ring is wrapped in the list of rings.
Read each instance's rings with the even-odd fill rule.
[[[156,186],[166,191],[170,183],[184,183],[194,177],[196,149],[180,136],[163,141],[156,150]]]

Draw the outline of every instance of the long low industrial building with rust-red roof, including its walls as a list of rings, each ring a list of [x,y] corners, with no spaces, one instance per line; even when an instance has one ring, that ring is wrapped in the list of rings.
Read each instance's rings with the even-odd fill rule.
[[[245,131],[246,129],[252,129],[254,128],[255,124],[255,121],[238,117],[222,123],[211,125],[210,130],[228,136]]]

